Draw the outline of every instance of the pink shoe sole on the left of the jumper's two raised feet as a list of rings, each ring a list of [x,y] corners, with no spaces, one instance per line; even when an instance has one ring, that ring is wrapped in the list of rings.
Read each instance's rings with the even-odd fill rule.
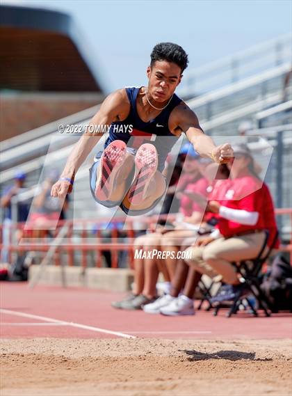
[[[117,173],[127,155],[127,145],[123,141],[113,141],[104,150],[99,163],[99,175],[95,185],[95,196],[99,200],[109,200],[115,187]]]

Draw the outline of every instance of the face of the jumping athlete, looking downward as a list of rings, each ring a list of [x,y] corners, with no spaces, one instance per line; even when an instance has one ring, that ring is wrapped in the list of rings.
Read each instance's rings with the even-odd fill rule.
[[[147,68],[148,93],[156,102],[165,102],[181,81],[181,68],[172,62],[156,61]]]

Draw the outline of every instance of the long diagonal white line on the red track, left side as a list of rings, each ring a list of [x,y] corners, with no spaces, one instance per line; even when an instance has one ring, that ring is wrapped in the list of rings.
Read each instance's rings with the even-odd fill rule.
[[[58,320],[58,319],[54,319],[54,318],[51,318],[51,317],[45,317],[45,316],[39,316],[39,315],[31,315],[29,313],[17,312],[17,311],[12,311],[12,310],[5,310],[5,309],[0,309],[0,312],[1,313],[6,313],[8,315],[15,315],[15,316],[20,316],[20,317],[28,317],[30,319],[39,319],[39,320],[42,320],[43,322],[52,322],[52,323],[58,323],[58,324],[66,324],[67,326],[76,327],[76,328],[83,328],[83,330],[95,331],[97,333],[105,333],[105,334],[117,335],[117,337],[122,337],[122,338],[136,338],[135,335],[121,333],[120,331],[111,331],[111,330],[106,330],[106,328],[99,328],[99,327],[94,327],[94,326],[86,326],[86,324],[81,324],[81,323],[65,322],[64,320]]]

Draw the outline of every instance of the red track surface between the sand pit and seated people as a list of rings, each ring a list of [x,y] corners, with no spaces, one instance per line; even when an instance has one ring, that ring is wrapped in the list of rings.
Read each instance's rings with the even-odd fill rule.
[[[122,332],[141,338],[291,338],[292,317],[278,314],[272,317],[252,317],[240,312],[232,318],[221,312],[198,311],[195,316],[163,317],[143,311],[125,311],[111,308],[111,301],[123,294],[83,288],[48,287],[39,285],[29,289],[26,283],[1,283],[0,306],[3,310],[20,312],[35,317],[15,316],[1,311],[1,337],[3,338],[116,338],[113,335],[79,324],[106,331]],[[55,321],[44,322],[49,317]]]

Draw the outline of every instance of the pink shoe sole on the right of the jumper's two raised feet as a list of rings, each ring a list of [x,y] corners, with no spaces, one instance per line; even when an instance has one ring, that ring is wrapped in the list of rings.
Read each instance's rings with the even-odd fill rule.
[[[145,192],[152,176],[157,170],[158,155],[154,145],[144,143],[136,152],[135,177],[131,189],[129,189],[129,203],[137,205],[145,198]]]

